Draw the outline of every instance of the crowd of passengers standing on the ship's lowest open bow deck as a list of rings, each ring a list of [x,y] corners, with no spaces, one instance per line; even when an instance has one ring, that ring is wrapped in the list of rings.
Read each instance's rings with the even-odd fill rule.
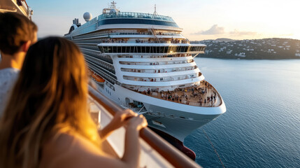
[[[217,101],[217,93],[213,90],[212,85],[210,85],[207,81],[203,81],[203,85],[205,85],[205,87],[192,86],[187,88],[176,88],[174,91],[167,90],[160,92],[157,90],[150,90],[150,88],[148,88],[148,90],[144,90],[141,93],[150,96],[157,95],[161,99],[183,104],[197,102],[200,106],[213,106],[213,104]],[[210,90],[213,92],[209,92]],[[138,89],[136,92],[140,92],[140,90]],[[153,92],[156,94],[153,94]],[[209,93],[210,95],[208,95]]]

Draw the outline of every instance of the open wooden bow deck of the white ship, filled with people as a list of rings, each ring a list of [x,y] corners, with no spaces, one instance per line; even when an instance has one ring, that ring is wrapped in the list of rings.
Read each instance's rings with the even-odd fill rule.
[[[170,102],[187,104],[191,106],[217,107],[222,104],[220,94],[217,92],[217,90],[215,90],[215,87],[210,85],[210,83],[208,83],[206,80],[202,80],[200,85],[176,88],[173,91],[133,91],[148,95],[150,97],[155,97],[157,99],[164,99]]]

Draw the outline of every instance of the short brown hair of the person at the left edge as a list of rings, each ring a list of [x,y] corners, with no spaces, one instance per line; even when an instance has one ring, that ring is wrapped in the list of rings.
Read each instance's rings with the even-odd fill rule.
[[[15,54],[27,41],[34,41],[38,27],[26,16],[18,13],[0,13],[0,50]]]

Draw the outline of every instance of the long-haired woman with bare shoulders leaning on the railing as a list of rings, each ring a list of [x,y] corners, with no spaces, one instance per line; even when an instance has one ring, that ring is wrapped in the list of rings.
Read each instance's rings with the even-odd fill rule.
[[[101,132],[87,112],[87,73],[79,48],[45,38],[29,48],[0,122],[0,167],[137,167],[142,116],[127,110]],[[123,158],[101,137],[127,125]]]

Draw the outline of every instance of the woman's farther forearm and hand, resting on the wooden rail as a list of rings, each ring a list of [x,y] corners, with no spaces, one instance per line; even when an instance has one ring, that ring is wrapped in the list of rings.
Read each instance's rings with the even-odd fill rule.
[[[132,118],[134,116],[137,116],[134,111],[131,111],[130,109],[124,110],[123,113],[115,113],[115,116],[113,116],[113,120],[106,125],[102,130],[99,130],[99,136],[101,137],[101,140],[105,140],[106,137],[108,137],[113,130],[117,130],[118,128],[124,126],[127,124],[129,118]]]

